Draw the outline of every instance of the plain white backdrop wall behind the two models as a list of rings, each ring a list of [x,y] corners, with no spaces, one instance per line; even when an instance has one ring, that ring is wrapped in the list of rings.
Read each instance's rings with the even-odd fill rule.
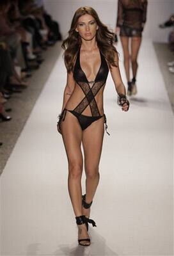
[[[80,6],[91,6],[99,14],[102,22],[110,29],[115,28],[117,0],[115,1],[74,1],[74,0],[44,0],[45,8],[58,20],[63,37],[67,36],[70,22],[75,10]],[[171,28],[160,29],[159,23],[164,22],[174,13],[173,0],[148,0],[147,22],[145,26],[145,38],[152,38],[154,42],[167,42]]]

